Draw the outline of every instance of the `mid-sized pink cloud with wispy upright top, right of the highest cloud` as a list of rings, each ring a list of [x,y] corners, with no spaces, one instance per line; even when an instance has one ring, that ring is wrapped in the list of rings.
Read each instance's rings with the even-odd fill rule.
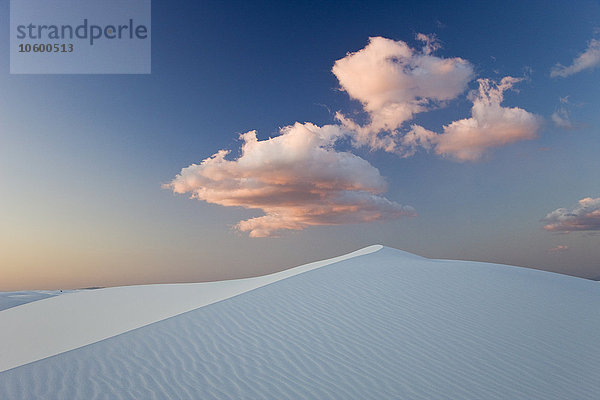
[[[458,161],[477,161],[488,150],[533,139],[541,126],[541,118],[518,107],[502,107],[504,92],[522,79],[504,77],[500,83],[478,79],[479,89],[471,92],[471,118],[444,126],[441,134],[413,125],[403,144],[407,154],[417,146],[434,148],[436,154]]]

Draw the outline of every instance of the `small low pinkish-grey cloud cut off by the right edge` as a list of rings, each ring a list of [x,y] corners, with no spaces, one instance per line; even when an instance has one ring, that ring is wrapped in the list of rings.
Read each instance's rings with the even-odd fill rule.
[[[550,232],[600,231],[600,197],[581,199],[571,210],[556,209],[543,222],[544,229]]]

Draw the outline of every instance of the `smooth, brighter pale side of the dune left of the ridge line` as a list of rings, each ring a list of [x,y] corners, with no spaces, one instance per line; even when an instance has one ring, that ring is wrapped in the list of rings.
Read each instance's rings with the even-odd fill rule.
[[[340,257],[255,278],[77,291],[6,309],[0,312],[0,372],[381,247],[369,246]],[[34,295],[31,298],[37,300]]]

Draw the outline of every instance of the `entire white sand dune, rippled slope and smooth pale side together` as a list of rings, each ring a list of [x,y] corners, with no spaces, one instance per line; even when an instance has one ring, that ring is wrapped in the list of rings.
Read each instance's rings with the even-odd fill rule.
[[[0,311],[0,399],[598,399],[596,282],[381,246],[279,274]]]

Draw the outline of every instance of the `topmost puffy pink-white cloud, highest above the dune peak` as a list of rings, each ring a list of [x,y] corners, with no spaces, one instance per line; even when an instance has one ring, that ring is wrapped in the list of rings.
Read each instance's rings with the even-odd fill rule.
[[[418,34],[421,51],[403,41],[372,37],[369,44],[337,60],[332,68],[342,90],[363,105],[369,122],[360,125],[342,113],[336,117],[354,132],[356,146],[397,151],[392,132],[417,113],[439,106],[463,93],[473,77],[472,65],[462,58],[432,55],[440,45],[435,36]]]

